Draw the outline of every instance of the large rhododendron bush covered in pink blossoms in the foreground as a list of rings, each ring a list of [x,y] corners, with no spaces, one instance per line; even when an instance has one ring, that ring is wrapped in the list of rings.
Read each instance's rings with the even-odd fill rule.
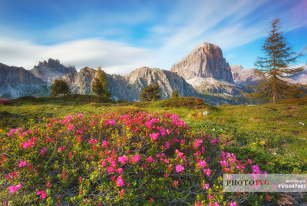
[[[224,193],[223,173],[261,173],[223,153],[174,114],[68,115],[2,136],[10,205],[239,205],[268,195]],[[1,203],[2,203],[1,202]]]

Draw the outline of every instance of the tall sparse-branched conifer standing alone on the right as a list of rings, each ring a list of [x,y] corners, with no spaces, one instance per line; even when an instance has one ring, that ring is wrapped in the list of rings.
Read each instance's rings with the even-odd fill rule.
[[[291,51],[292,47],[283,37],[283,32],[279,31],[279,21],[278,18],[274,19],[271,24],[272,30],[262,46],[265,57],[258,57],[258,61],[255,62],[255,66],[260,68],[258,70],[265,75],[265,79],[256,87],[257,92],[253,93],[253,96],[272,102],[294,98],[300,94],[300,86],[283,78],[303,70],[303,67],[288,67],[290,63],[295,63],[302,53]]]

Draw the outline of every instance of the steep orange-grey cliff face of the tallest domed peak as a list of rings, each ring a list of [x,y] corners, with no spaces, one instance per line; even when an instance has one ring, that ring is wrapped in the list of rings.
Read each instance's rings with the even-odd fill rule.
[[[194,77],[214,78],[233,83],[231,69],[219,46],[203,42],[177,61],[172,68],[185,80]]]

